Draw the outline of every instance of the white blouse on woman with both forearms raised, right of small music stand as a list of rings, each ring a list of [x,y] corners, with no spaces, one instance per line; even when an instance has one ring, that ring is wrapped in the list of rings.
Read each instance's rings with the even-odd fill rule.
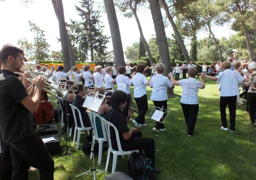
[[[198,90],[202,89],[200,81],[189,77],[188,79],[179,80],[179,84],[182,87],[181,103],[198,104]]]

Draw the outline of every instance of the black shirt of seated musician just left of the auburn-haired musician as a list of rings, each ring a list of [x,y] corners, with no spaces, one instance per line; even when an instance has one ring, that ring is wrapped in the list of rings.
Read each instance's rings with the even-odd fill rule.
[[[84,126],[85,127],[90,127],[91,123],[90,123],[89,116],[88,116],[85,108],[83,107],[84,101],[85,101],[85,98],[83,98],[79,95],[76,95],[74,100],[73,100],[72,105],[77,107],[77,109],[80,110]],[[75,113],[76,113],[76,118],[79,118],[77,111]],[[80,123],[79,119],[76,119],[76,120],[77,120],[77,126],[81,127],[81,123]]]

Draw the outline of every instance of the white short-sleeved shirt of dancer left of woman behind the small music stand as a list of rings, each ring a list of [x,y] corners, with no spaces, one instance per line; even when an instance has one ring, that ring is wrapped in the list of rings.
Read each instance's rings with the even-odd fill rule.
[[[146,76],[144,76],[142,73],[135,74],[132,79],[130,80],[130,83],[134,86],[134,97],[141,97],[146,93],[146,83],[148,82]]]

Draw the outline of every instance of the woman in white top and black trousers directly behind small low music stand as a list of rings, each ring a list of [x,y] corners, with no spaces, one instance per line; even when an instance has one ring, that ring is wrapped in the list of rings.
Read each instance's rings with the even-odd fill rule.
[[[150,87],[153,88],[150,99],[153,101],[155,107],[158,107],[159,109],[163,108],[167,110],[167,100],[168,100],[167,88],[168,87],[170,88],[173,85],[170,82],[170,79],[168,77],[163,76],[163,71],[165,70],[164,64],[157,63],[156,70],[157,70],[157,75],[153,76],[150,82]],[[168,76],[170,77],[170,74],[168,74]],[[166,112],[163,114],[162,119],[160,120],[162,123],[156,122],[156,125],[153,128],[153,131],[158,132],[159,128],[161,129],[161,131],[166,131],[165,125],[163,124],[163,119],[165,119],[165,116],[166,116]]]

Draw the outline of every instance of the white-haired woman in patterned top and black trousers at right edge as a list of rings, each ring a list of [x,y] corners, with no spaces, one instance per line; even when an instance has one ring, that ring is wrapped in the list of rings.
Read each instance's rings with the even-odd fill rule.
[[[248,70],[250,74],[247,82],[243,82],[243,85],[248,87],[246,102],[248,103],[251,120],[249,124],[256,126],[256,62],[251,61],[248,64]]]

